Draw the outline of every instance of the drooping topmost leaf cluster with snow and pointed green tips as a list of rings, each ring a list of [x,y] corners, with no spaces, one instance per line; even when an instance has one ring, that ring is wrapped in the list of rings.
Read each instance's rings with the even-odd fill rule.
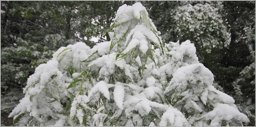
[[[142,74],[148,57],[154,59],[152,44],[161,49],[164,54],[160,32],[157,31],[154,23],[148,17],[147,10],[141,7],[141,3],[133,6],[122,6],[118,10],[115,22],[111,28],[115,28],[114,36],[108,53],[117,44],[116,59],[131,59],[132,65],[137,57],[140,57],[142,64]]]

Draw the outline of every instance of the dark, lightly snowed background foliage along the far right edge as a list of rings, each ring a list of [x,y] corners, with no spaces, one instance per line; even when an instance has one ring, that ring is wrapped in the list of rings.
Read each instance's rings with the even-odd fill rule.
[[[239,68],[237,76],[228,83],[229,92],[241,112],[255,125],[255,1],[225,1],[223,17],[231,38],[229,49],[223,55],[223,66]]]

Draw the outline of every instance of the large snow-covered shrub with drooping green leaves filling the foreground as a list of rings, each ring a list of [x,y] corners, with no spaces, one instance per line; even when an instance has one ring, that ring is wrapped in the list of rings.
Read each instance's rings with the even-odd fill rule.
[[[141,3],[121,6],[111,41],[61,47],[36,68],[9,117],[36,126],[219,126],[248,122],[213,87],[189,40],[163,46]]]

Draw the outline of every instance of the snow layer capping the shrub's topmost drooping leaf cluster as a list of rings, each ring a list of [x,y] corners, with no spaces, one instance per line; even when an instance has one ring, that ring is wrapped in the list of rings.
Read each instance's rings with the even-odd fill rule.
[[[118,43],[118,53],[125,54],[135,47],[139,47],[140,51],[145,53],[149,49],[149,41],[160,47],[161,37],[158,36],[160,32],[156,30],[141,3],[135,3],[132,6],[125,4],[119,7],[114,23],[111,25],[117,27],[110,49]]]

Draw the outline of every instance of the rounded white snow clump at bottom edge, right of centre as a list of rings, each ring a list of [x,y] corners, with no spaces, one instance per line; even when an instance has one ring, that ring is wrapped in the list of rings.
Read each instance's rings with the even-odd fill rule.
[[[189,126],[189,124],[181,111],[170,106],[162,115],[159,126]]]

